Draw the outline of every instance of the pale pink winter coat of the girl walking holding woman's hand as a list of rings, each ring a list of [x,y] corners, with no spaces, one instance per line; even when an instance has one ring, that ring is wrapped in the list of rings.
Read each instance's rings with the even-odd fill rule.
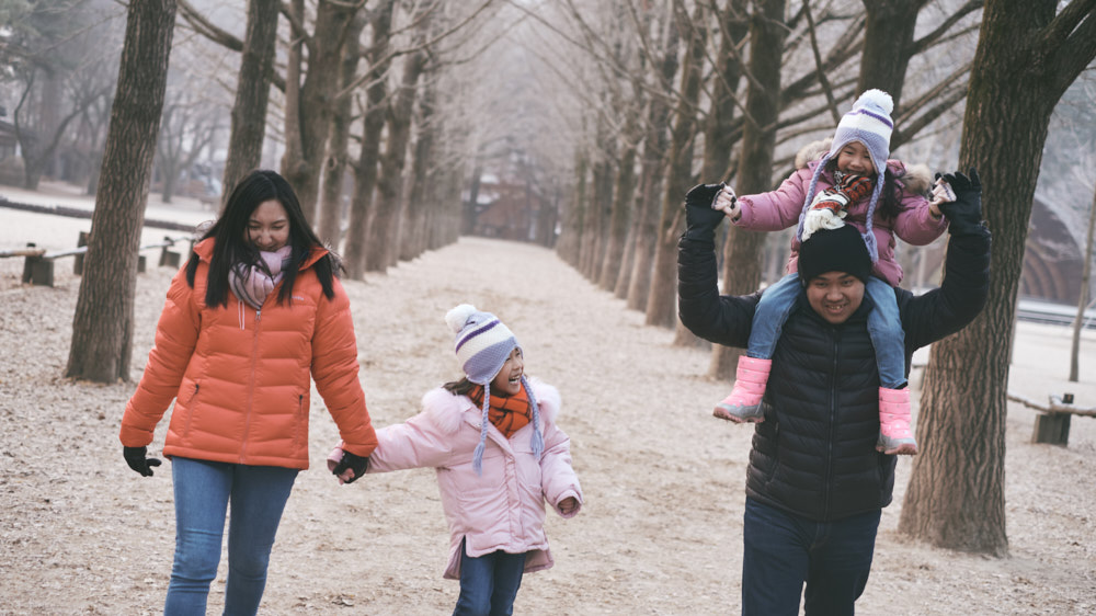
[[[367,472],[433,467],[442,507],[449,525],[449,561],[445,578],[460,579],[460,541],[473,557],[496,550],[528,552],[525,572],[553,564],[545,535],[545,502],[563,517],[581,509],[582,489],[571,467],[567,434],[556,426],[560,397],[555,387],[529,379],[540,409],[545,448],[533,455],[532,423],[509,440],[488,426],[483,474],[472,470],[472,452],[480,438],[482,411],[467,396],[444,388],[427,391],[423,411],[404,423],[377,431],[377,448]],[[559,511],[568,497],[579,501],[569,515]]]

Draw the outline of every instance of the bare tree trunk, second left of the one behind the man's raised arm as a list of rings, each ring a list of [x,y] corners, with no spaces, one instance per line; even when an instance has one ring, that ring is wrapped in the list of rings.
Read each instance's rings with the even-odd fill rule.
[[[699,15],[704,14],[704,7],[698,4],[696,11],[698,16],[690,22],[684,7],[674,4],[675,22],[688,44],[682,60],[682,93],[674,112],[674,128],[670,137],[670,163],[666,167],[662,213],[655,236],[654,270],[646,312],[647,324],[664,328],[673,328],[677,322],[677,237],[684,228],[682,202],[685,191],[695,181],[693,149],[696,145],[696,109],[700,95],[704,46],[707,42],[707,30],[692,25],[703,23]]]

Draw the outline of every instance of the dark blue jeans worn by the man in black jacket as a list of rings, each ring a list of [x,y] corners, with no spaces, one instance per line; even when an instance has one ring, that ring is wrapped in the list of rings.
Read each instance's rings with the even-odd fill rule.
[[[743,616],[853,614],[871,571],[882,511],[812,522],[746,498]]]

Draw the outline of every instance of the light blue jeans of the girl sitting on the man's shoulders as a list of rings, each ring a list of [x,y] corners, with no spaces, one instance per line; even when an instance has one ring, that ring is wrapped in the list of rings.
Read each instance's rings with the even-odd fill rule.
[[[765,289],[754,310],[746,356],[769,360],[780,340],[780,331],[799,297],[802,285],[799,274],[788,274]],[[888,389],[905,385],[905,330],[899,319],[894,288],[882,278],[871,276],[865,284],[865,295],[874,308],[868,315],[868,335],[876,349],[879,384]]]

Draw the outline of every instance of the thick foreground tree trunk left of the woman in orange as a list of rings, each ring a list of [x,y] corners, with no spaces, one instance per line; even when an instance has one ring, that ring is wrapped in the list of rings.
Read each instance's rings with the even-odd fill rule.
[[[96,383],[129,379],[137,250],[174,25],[175,0],[129,3],[103,179],[72,318],[67,377]]]

